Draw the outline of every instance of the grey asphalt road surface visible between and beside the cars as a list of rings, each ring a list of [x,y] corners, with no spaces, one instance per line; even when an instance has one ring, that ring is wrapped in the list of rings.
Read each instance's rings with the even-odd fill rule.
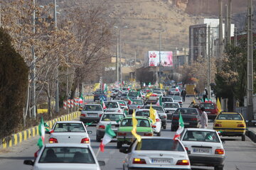
[[[188,106],[191,102],[191,98],[186,98],[186,102],[183,107]],[[209,123],[208,128],[212,128],[213,123]],[[96,142],[96,131],[95,126],[87,128],[92,130],[91,146],[96,153],[100,142]],[[161,133],[164,137],[174,137],[174,132],[171,132],[171,123],[167,123],[166,130]],[[240,137],[225,137],[222,138],[224,141],[225,148],[225,170],[255,170],[256,167],[256,144],[246,137],[245,142],[241,141]],[[31,169],[32,166],[23,165],[24,159],[33,159],[33,154],[36,152],[38,147],[36,146],[38,137],[27,140],[11,147],[9,149],[0,149],[0,170],[27,170]],[[116,147],[115,140],[107,144],[105,152],[100,152],[97,159],[105,161],[106,165],[102,166],[102,170],[114,170],[122,169],[122,161],[124,160],[125,154],[119,152]],[[197,169],[213,169],[213,167],[200,167],[192,166],[193,170]]]

